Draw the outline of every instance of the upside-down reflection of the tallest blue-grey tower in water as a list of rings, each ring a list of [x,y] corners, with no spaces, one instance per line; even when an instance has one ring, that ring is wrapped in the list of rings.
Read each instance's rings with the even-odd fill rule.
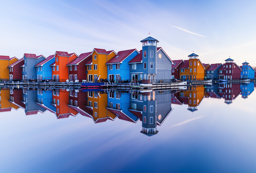
[[[152,93],[152,94],[151,94]],[[156,117],[156,100],[155,92],[147,92],[143,94],[146,99],[143,101],[142,111],[142,131],[141,133],[152,136],[157,134],[157,117]]]

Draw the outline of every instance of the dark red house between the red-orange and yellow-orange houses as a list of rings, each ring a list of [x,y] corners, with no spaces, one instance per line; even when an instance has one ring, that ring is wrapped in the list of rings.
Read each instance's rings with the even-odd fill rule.
[[[87,80],[85,63],[92,60],[92,52],[82,53],[76,59],[67,64],[70,82],[82,82]]]

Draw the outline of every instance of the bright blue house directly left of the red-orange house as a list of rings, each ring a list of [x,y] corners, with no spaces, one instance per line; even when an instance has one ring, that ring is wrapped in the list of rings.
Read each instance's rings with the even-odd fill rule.
[[[50,64],[54,62],[54,55],[50,55],[46,59],[35,65],[38,81],[52,80],[52,67],[50,66]]]

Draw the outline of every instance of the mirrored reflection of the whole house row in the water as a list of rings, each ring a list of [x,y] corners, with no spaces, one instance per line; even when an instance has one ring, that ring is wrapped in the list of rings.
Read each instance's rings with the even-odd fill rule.
[[[83,115],[94,123],[124,120],[142,123],[142,134],[152,136],[172,112],[172,104],[188,105],[194,112],[204,98],[220,99],[230,104],[239,95],[247,98],[254,91],[254,83],[220,83],[209,86],[190,85],[187,90],[89,91],[77,89],[2,88],[0,112],[24,109],[25,115],[51,112],[57,119]]]

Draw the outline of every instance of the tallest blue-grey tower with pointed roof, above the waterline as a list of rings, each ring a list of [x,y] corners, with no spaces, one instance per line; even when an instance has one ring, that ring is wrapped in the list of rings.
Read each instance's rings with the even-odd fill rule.
[[[142,42],[143,79],[152,83],[156,79],[157,42],[159,41],[152,37],[147,37],[140,42]]]

